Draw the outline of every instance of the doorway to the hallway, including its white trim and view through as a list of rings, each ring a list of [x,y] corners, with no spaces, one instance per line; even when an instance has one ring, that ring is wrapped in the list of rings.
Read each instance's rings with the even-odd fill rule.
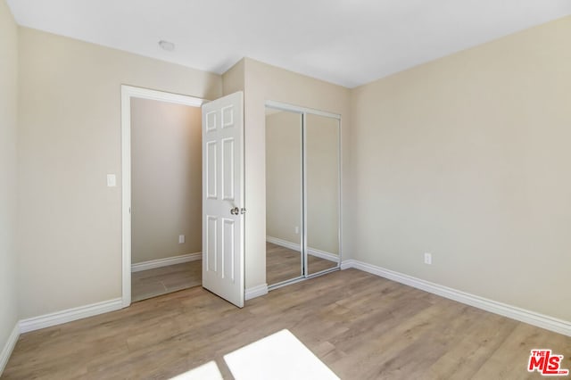
[[[121,87],[123,307],[202,285],[203,103]]]

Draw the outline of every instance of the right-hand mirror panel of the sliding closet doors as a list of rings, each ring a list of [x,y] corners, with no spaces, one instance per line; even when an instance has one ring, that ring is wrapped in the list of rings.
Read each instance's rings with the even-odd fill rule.
[[[339,120],[308,113],[305,125],[308,273],[339,263]]]

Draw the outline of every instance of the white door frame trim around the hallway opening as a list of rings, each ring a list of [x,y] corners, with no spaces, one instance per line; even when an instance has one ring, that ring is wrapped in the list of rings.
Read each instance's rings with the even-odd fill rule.
[[[131,98],[201,107],[206,99],[121,85],[121,271],[122,307],[131,304]]]

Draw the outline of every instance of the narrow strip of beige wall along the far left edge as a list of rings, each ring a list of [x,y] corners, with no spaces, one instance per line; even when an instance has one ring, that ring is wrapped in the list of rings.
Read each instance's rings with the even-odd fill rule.
[[[18,27],[5,1],[0,0],[0,351],[18,320],[15,247],[17,97]]]

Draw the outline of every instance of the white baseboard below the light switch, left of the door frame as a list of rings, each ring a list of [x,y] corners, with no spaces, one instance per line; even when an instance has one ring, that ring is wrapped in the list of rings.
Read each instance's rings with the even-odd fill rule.
[[[40,328],[62,325],[74,320],[93,317],[109,311],[120,310],[123,306],[122,300],[114,300],[92,303],[90,305],[79,306],[78,308],[56,311],[39,317],[22,319],[20,321],[21,333],[39,330]]]

